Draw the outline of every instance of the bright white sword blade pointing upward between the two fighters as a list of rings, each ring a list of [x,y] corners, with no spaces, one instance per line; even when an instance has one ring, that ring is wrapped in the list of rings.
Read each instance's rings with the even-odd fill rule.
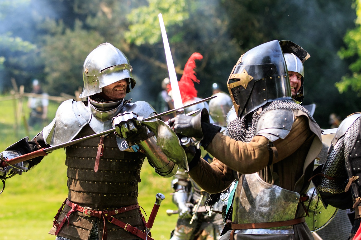
[[[170,86],[172,87],[172,95],[174,101],[174,108],[182,108],[182,97],[181,92],[179,91],[177,75],[175,74],[175,68],[173,63],[172,54],[170,52],[169,42],[167,33],[165,31],[165,26],[163,22],[162,14],[158,14],[160,30],[162,32],[163,44],[164,44],[164,51],[165,51],[165,58],[167,59],[168,65],[168,72],[169,72],[169,79],[170,79]]]

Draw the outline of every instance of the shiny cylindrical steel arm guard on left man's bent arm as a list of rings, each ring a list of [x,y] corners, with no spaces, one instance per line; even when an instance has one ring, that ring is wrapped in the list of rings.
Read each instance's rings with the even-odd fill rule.
[[[177,164],[170,161],[157,145],[155,136],[140,142],[138,146],[144,151],[148,162],[155,169],[156,173],[162,177],[173,177],[178,170]]]

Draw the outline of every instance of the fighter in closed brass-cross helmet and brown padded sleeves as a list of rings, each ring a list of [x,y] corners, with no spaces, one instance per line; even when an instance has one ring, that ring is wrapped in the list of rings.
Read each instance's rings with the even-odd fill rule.
[[[313,239],[303,202],[313,162],[322,148],[321,129],[309,112],[292,100],[281,46],[277,40],[240,57],[227,82],[237,118],[220,127],[195,117],[178,116],[174,131],[201,139],[212,163],[189,159],[188,174],[209,193],[239,178],[233,222],[221,239]],[[195,150],[189,147],[187,151]]]

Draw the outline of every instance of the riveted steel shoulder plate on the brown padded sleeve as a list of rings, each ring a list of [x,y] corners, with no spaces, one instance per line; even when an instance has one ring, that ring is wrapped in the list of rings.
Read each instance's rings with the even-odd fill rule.
[[[275,109],[264,113],[257,123],[256,134],[270,141],[284,139],[290,133],[295,116],[291,109]]]

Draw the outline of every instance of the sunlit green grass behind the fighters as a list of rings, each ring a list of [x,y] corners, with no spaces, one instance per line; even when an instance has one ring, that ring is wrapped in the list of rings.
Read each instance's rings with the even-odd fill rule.
[[[23,125],[13,128],[13,101],[0,103],[0,151],[26,136]],[[50,102],[49,121],[55,116],[57,103]],[[29,110],[24,104],[25,116]],[[34,137],[41,127],[29,132],[29,138]],[[0,240],[50,240],[55,236],[49,235],[53,217],[61,203],[68,196],[66,187],[66,166],[64,150],[56,150],[31,171],[22,176],[14,176],[6,180],[4,192],[0,195]],[[177,215],[167,216],[166,209],[176,209],[171,201],[171,179],[158,176],[147,161],[142,167],[142,182],[139,184],[139,205],[145,212],[151,213],[155,202],[155,195],[162,193],[162,202],[155,223],[152,237],[155,240],[169,239],[170,231],[174,229]],[[1,182],[0,182],[1,187]],[[145,218],[148,219],[148,216]]]

